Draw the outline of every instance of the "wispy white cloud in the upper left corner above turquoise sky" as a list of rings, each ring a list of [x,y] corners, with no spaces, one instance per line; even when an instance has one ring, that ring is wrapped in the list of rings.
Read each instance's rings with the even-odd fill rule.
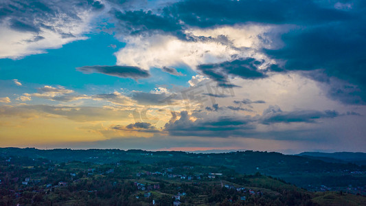
[[[59,13],[47,19],[34,19],[44,25],[39,32],[25,32],[10,27],[11,19],[0,24],[0,58],[19,59],[31,54],[42,54],[46,49],[57,49],[72,41],[86,39],[89,24],[95,17],[90,11],[78,10],[77,17]]]

